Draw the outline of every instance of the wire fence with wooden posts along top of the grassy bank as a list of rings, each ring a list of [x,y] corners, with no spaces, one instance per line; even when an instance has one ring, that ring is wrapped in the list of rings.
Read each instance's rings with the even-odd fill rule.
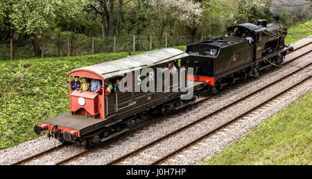
[[[201,39],[202,36],[200,35],[164,35],[160,43],[160,39],[155,35],[128,35],[102,38],[76,34],[40,37],[39,44],[42,57],[62,57],[96,53],[146,51],[159,47],[185,46]],[[31,39],[12,39],[12,42],[10,39],[0,41],[0,59],[29,57],[35,57],[35,50]]]

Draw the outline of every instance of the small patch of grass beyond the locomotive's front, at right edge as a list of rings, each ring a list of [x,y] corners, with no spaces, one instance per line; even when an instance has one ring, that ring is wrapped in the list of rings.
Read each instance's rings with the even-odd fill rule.
[[[288,26],[288,35],[285,39],[285,44],[291,44],[310,35],[312,35],[312,19],[302,23],[295,23]]]

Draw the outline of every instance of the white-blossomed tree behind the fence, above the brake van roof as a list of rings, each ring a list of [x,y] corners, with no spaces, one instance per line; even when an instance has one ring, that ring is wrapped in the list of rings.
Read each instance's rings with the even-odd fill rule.
[[[190,26],[202,16],[200,4],[188,0],[148,0],[146,3],[151,8],[150,25],[156,32],[159,46],[162,46],[162,37],[168,26],[172,26],[177,21]]]

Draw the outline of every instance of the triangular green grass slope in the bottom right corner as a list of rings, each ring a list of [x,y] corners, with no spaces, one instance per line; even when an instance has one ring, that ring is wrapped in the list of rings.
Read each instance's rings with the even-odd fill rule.
[[[204,164],[312,164],[312,92]]]

